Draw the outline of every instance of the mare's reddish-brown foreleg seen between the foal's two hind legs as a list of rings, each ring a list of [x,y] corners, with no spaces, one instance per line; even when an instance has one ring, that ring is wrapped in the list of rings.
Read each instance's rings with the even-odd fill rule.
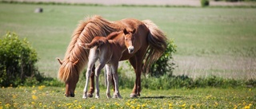
[[[95,74],[95,64],[92,68],[92,72],[90,74],[90,90],[87,92],[88,97],[93,97],[93,93],[95,90],[95,85],[94,85],[94,74]]]

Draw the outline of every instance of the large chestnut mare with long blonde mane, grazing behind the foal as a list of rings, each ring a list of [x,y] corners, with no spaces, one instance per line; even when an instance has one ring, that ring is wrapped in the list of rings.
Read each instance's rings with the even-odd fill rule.
[[[134,48],[133,53],[126,50],[122,53],[120,60],[129,60],[133,66],[136,80],[130,97],[140,95],[141,91],[141,72],[147,72],[150,65],[162,55],[166,49],[164,33],[158,26],[150,20],[138,21],[134,18],[126,18],[120,21],[107,21],[100,16],[87,18],[80,22],[74,30],[70,45],[67,47],[66,55],[63,60],[58,59],[61,64],[58,70],[58,78],[66,84],[66,96],[74,97],[74,90],[78,83],[79,74],[86,66],[89,50],[78,47],[78,42],[90,43],[96,36],[107,36],[114,31],[121,31],[125,28],[136,29],[135,36],[141,38]],[[136,39],[135,39],[136,40]],[[144,64],[143,64],[144,63]],[[90,76],[89,96],[94,92],[94,73]]]

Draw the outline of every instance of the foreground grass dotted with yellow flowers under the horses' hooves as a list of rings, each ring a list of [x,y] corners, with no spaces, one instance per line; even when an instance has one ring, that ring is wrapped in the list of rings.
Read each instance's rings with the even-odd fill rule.
[[[152,91],[143,89],[142,97],[130,99],[130,89],[122,89],[123,99],[82,99],[82,88],[74,98],[66,98],[64,88],[45,86],[2,88],[0,108],[255,108],[254,88],[198,88]]]

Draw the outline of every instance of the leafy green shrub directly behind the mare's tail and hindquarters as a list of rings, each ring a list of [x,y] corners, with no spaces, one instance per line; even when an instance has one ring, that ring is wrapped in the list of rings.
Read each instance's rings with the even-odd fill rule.
[[[162,56],[152,64],[150,68],[150,76],[159,77],[168,73],[168,75],[172,75],[174,70],[173,53],[176,52],[177,46],[174,44],[174,40],[170,40],[167,45],[166,51],[162,54]]]

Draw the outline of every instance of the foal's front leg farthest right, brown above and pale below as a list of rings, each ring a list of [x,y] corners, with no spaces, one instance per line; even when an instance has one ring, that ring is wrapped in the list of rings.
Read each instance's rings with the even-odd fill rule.
[[[114,86],[115,86],[113,98],[122,99],[122,96],[120,95],[120,92],[118,90],[118,63],[112,65],[112,73],[113,73]]]

